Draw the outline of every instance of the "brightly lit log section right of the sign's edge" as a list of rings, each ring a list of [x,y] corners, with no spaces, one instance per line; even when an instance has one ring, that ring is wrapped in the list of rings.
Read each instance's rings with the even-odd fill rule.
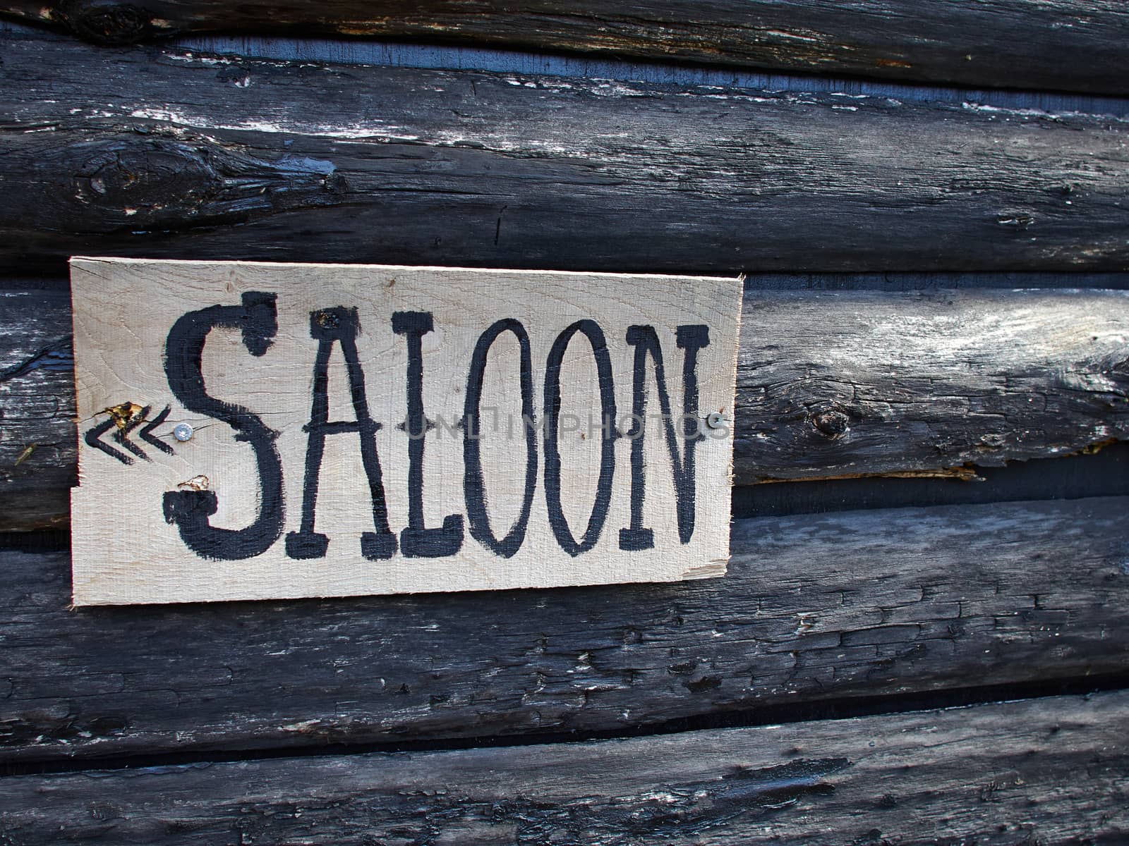
[[[1120,291],[750,292],[738,484],[973,476],[1129,434]]]

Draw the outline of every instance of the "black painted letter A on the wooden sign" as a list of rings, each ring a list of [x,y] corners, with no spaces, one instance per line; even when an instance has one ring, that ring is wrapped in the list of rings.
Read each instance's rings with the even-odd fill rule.
[[[306,441],[306,470],[301,492],[301,526],[298,531],[286,536],[286,554],[291,558],[321,558],[330,545],[327,536],[314,530],[317,510],[317,485],[322,472],[322,455],[325,438],[330,434],[356,432],[360,438],[360,460],[368,478],[368,492],[373,502],[373,526],[375,531],[360,536],[361,554],[369,561],[391,558],[396,554],[396,536],[388,528],[388,511],[384,499],[384,482],[380,473],[380,457],[376,451],[376,433],[380,424],[373,420],[365,394],[365,372],[357,355],[357,332],[360,320],[357,309],[335,308],[312,311],[309,336],[317,341],[314,359],[314,397],[309,412],[309,423],[304,430],[309,433]],[[341,344],[349,377],[349,394],[352,397],[352,421],[330,420],[330,354],[333,344]]]

